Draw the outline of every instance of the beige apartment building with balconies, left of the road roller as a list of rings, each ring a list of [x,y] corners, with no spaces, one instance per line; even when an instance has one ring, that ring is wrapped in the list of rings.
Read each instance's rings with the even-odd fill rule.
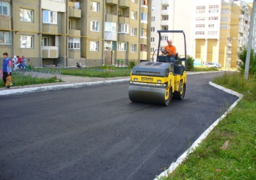
[[[150,10],[147,0],[1,0],[0,48],[35,67],[147,61]]]

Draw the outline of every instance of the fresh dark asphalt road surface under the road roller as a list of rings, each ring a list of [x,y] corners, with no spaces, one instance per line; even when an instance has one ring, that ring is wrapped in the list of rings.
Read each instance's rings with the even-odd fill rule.
[[[154,179],[237,100],[216,75],[169,107],[130,102],[129,82],[1,96],[0,179]]]

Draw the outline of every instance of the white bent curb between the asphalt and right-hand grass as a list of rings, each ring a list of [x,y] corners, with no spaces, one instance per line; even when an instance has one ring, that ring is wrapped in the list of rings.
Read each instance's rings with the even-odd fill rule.
[[[219,122],[224,119],[228,113],[238,104],[238,102],[243,98],[243,95],[241,95],[240,93],[234,92],[233,90],[230,90],[228,88],[222,87],[220,85],[217,85],[213,82],[209,82],[209,84],[215,88],[218,88],[220,90],[223,90],[223,92],[229,93],[231,95],[237,96],[238,99],[237,101],[235,101],[231,107],[228,108],[228,110],[219,117],[219,119],[217,119],[208,129],[205,130],[205,132],[203,132],[202,135],[200,135],[199,138],[197,138],[196,141],[194,141],[194,143],[192,144],[192,146],[190,146],[187,151],[185,151],[177,160],[176,162],[171,163],[171,166],[165,170],[164,172],[162,172],[158,177],[156,177],[154,180],[158,180],[162,177],[166,177],[168,176],[168,174],[172,173],[180,164],[182,164],[188,157],[189,154],[191,154],[194,149],[196,149],[197,146],[199,146],[199,144],[208,136],[208,134],[210,134],[211,131],[213,131],[213,129],[215,128],[215,126],[217,126],[219,124]]]

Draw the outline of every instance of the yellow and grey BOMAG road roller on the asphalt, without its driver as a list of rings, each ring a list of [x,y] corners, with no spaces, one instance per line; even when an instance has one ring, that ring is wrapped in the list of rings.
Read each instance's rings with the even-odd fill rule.
[[[162,33],[182,33],[185,57],[168,63],[168,57],[160,49]],[[170,105],[172,98],[184,99],[187,82],[187,51],[184,31],[158,31],[159,43],[156,62],[144,61],[133,67],[130,75],[129,99],[158,105]],[[154,52],[154,54],[155,54]],[[153,54],[153,56],[154,56]]]

